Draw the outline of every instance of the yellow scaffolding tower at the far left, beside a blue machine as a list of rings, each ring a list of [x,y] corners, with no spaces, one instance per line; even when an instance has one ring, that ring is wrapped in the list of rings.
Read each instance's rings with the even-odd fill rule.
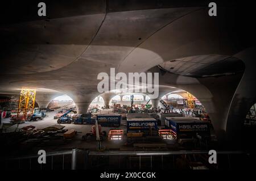
[[[19,96],[17,119],[27,119],[32,115],[35,106],[35,89],[22,89]]]

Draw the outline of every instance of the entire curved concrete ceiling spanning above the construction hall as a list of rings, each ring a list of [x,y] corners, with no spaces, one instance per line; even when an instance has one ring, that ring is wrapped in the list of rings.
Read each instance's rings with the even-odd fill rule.
[[[63,92],[75,101],[93,99],[99,95],[98,73],[109,74],[110,68],[143,72],[166,61],[198,55],[208,57],[207,62],[216,55],[212,61],[218,65],[250,46],[234,36],[239,34],[242,39],[253,31],[241,32],[239,27],[245,24],[234,18],[237,11],[233,8],[221,7],[218,16],[212,18],[203,2],[183,6],[150,1],[138,3],[138,8],[131,1],[86,2],[80,8],[79,3],[57,5],[51,4],[47,18],[26,14],[18,22],[11,19],[0,26],[0,61],[4,67],[0,92],[26,86]],[[172,66],[169,64],[164,65]],[[205,75],[205,66],[192,64],[172,73]]]

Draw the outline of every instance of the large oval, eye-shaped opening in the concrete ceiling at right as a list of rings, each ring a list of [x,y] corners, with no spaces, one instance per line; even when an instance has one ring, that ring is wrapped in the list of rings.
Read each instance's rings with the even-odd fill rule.
[[[189,77],[232,75],[245,69],[242,60],[238,58],[212,54],[177,58],[164,62],[159,67]]]

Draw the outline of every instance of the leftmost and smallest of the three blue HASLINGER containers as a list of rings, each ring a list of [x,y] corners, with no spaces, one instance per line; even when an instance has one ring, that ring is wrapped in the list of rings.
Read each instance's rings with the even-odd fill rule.
[[[102,127],[119,127],[121,124],[121,119],[122,116],[116,114],[97,115],[98,124],[100,124]]]

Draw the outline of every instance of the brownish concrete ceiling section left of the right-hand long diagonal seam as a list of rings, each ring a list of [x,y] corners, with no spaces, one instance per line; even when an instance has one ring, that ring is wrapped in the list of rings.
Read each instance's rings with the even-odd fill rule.
[[[6,43],[1,74],[8,80],[1,82],[1,88],[26,85],[85,94],[96,91],[98,73],[118,68],[156,31],[197,9],[111,12],[1,27]]]

